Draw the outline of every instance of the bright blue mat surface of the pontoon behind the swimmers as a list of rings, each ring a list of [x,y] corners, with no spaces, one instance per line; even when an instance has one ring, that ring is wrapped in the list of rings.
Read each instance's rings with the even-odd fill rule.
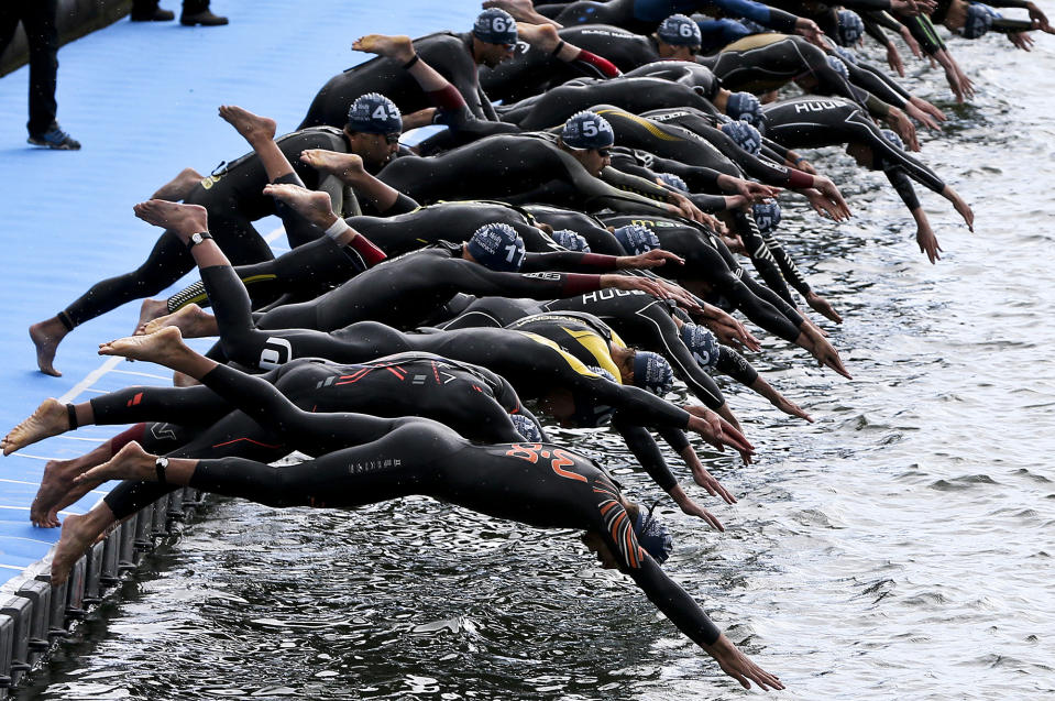
[[[156,365],[96,354],[100,341],[133,330],[138,303],[70,333],[55,361],[64,373],[57,379],[36,371],[26,329],[145,259],[160,231],[132,216],[133,204],[185,166],[208,173],[246,151],[216,116],[218,106],[240,105],[276,119],[279,133],[292,131],[330,76],[366,58],[350,50],[358,36],[465,31],[480,6],[215,0],[212,9],[231,24],[191,29],[122,20],[61,50],[58,119],[84,144],[80,152],[29,146],[28,69],[0,79],[4,432],[48,396],[83,402],[131,384],[169,383],[169,373]],[[274,218],[257,222],[262,233],[277,227]],[[46,461],[87,452],[121,429],[83,428],[0,461],[0,582],[44,557],[58,538],[57,528],[33,528],[28,521]],[[68,513],[88,511],[101,494],[87,495]]]

